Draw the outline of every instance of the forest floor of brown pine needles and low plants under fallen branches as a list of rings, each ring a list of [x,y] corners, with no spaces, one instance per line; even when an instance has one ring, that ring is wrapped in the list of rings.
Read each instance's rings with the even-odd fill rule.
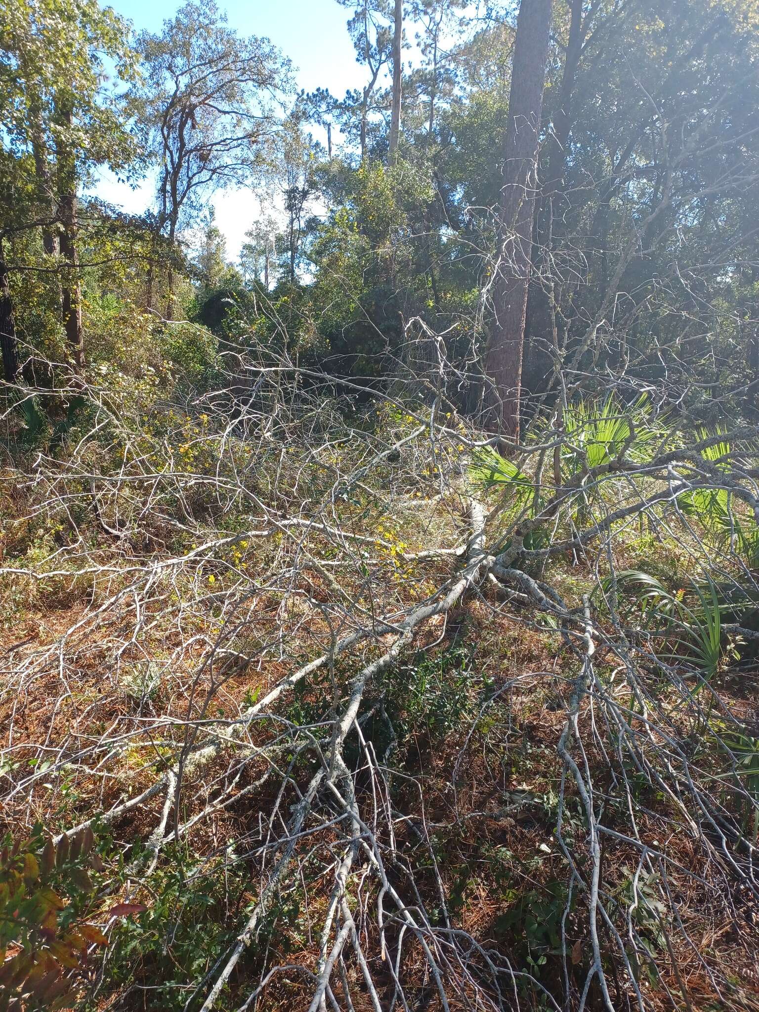
[[[722,634],[704,709],[654,663],[671,628],[635,647],[635,595],[604,611],[607,545],[532,570],[553,611],[488,579],[468,502],[502,551],[501,490],[406,422],[391,466],[371,432],[263,446],[254,478],[195,424],[170,472],[134,454],[139,492],[75,453],[2,478],[4,820],[67,848],[50,880],[90,942],[54,939],[59,1000],[759,1009],[752,810],[715,738],[759,727],[752,652]],[[615,571],[685,587],[699,541],[660,519]]]

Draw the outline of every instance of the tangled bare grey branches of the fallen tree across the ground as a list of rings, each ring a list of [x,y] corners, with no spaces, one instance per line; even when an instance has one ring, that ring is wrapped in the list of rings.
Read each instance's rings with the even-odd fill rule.
[[[439,355],[441,344],[435,348]],[[272,909],[293,889],[305,890],[313,945],[294,963],[263,955],[243,1008],[278,976],[297,974],[315,1012],[326,1003],[410,1008],[419,989],[445,1009],[461,1002],[516,1008],[527,985],[552,1008],[645,1009],[656,1006],[641,967],[660,958],[658,990],[674,989],[672,1000],[687,1005],[684,952],[712,993],[724,994],[728,983],[700,953],[672,892],[692,881],[726,910],[757,894],[751,826],[759,796],[740,772],[755,738],[720,680],[726,638],[756,639],[740,617],[759,595],[753,557],[745,554],[759,545],[756,426],[694,436],[692,424],[658,418],[652,403],[568,405],[516,447],[515,463],[493,448],[493,437],[442,410],[440,377],[450,374],[442,358],[426,405],[416,396],[380,404],[381,412],[403,413],[389,435],[376,425],[346,424],[324,373],[296,369],[265,349],[235,349],[228,365],[229,383],[196,401],[187,417],[200,419],[194,434],[169,458],[160,457],[163,437],[146,442],[144,425],[114,414],[102,391],[87,388],[91,421],[77,445],[64,458],[43,452],[25,480],[27,518],[44,511],[68,533],[36,565],[4,565],[6,589],[86,587],[90,603],[50,645],[26,640],[6,651],[9,817],[50,820],[66,774],[77,783],[81,818],[69,814],[59,832],[75,838],[110,825],[123,833],[147,819],[148,846],[130,865],[130,900],[149,895],[167,846],[186,840],[201,853],[207,827],[237,813],[237,835],[222,849],[226,861],[248,869],[255,900],[232,946],[204,977],[185,982],[187,1007],[210,1009],[226,1001],[228,988],[245,988],[236,966],[251,946],[261,951]],[[629,380],[622,381],[628,396]],[[400,373],[398,382],[416,390],[420,377]],[[103,455],[111,439],[122,447],[117,468]],[[21,473],[14,481],[23,487]],[[372,533],[377,514],[410,527],[420,511],[425,543],[418,550],[394,543],[389,553],[386,535]],[[236,517],[234,530],[221,523],[225,515]],[[101,533],[94,541],[85,532],[90,519]],[[630,525],[644,522],[687,545],[699,586],[721,588],[711,655],[698,650],[697,629],[709,620],[703,596],[696,619],[696,605],[678,611],[680,599],[652,581],[657,614],[674,625],[630,624],[630,577],[617,556]],[[552,585],[551,561],[573,558],[588,582],[569,602]],[[560,676],[568,685],[566,719],[555,743],[555,839],[568,886],[560,990],[457,923],[423,778],[411,781],[419,797],[412,813],[399,810],[394,785],[408,776],[396,756],[383,676],[412,649],[434,649],[465,599],[494,620],[508,617],[549,636],[561,630],[567,652],[569,670]],[[144,685],[137,709],[117,705],[98,731],[89,711],[107,711],[126,672],[148,659],[171,679],[168,707],[156,707]],[[93,662],[105,698],[65,716]],[[256,669],[277,674],[263,677],[246,704],[235,698],[235,680]],[[461,755],[513,684],[506,679],[482,699]],[[51,702],[29,733],[40,685]],[[316,691],[326,704],[299,720],[291,708],[299,691]],[[390,736],[381,753],[382,723]],[[711,749],[694,747],[698,736]],[[135,749],[158,749],[160,759],[128,773],[124,757]],[[723,772],[714,755],[725,757]],[[642,802],[642,781],[661,797],[658,813]],[[489,818],[508,819],[525,804],[528,797],[510,802],[506,792]],[[466,832],[473,814],[455,808],[451,825],[460,820]],[[405,852],[407,826],[421,857]],[[667,826],[687,838],[687,861],[671,837],[666,842]],[[635,868],[626,903],[604,857],[612,847]],[[213,868],[219,856],[212,846],[203,860]],[[587,943],[582,957],[569,935],[575,896],[585,910],[584,927],[573,915],[571,929]],[[652,918],[666,939],[661,956],[645,931]]]

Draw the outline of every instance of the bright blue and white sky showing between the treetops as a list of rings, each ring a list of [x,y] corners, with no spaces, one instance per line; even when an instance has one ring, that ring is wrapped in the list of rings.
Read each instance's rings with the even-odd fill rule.
[[[329,88],[342,95],[347,88],[363,84],[364,71],[356,63],[353,44],[346,28],[349,11],[336,0],[218,0],[227,11],[229,24],[242,35],[265,35],[289,57],[297,68],[299,88],[313,91]],[[180,0],[109,0],[136,29],[158,31],[173,17]],[[138,189],[118,183],[103,173],[96,186],[103,199],[132,214],[145,210],[153,195],[146,180]],[[250,191],[228,191],[213,198],[217,224],[227,238],[227,252],[235,259],[245,232],[260,215],[259,200]]]

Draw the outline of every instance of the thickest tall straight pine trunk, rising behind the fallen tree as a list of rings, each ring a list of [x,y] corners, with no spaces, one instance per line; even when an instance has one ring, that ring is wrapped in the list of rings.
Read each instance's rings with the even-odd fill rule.
[[[519,396],[524,319],[532,253],[537,142],[549,53],[552,0],[522,0],[514,41],[503,187],[499,263],[494,284],[493,332],[487,370],[493,414],[502,435],[519,438]]]

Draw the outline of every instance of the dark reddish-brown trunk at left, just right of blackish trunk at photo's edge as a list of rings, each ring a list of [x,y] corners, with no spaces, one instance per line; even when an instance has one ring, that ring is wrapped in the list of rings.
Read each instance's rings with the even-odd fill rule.
[[[61,121],[71,129],[71,109],[61,111]],[[62,319],[77,368],[84,368],[84,331],[82,328],[82,286],[77,251],[77,179],[74,155],[63,139],[58,147],[58,217],[61,221],[61,259],[63,260]]]

